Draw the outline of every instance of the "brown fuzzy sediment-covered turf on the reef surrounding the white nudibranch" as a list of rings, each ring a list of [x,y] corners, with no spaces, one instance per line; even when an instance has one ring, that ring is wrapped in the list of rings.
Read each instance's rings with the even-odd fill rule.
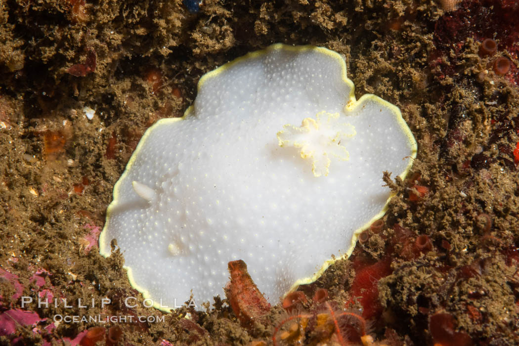
[[[481,3],[466,0],[456,8]],[[513,155],[519,89],[512,79],[518,58],[502,48],[504,40],[494,56],[480,56],[489,36],[440,30],[439,19],[450,25],[461,12],[445,14],[436,6],[208,0],[192,13],[180,0],[7,2],[0,9],[0,265],[17,274],[22,293],[33,298],[30,278],[43,268],[51,273],[43,287],[55,296],[113,301],[108,311],[99,304],[86,311],[33,307],[48,319],[38,328],[56,314],[153,314],[165,322],[119,324],[125,342],[270,340],[284,313],[280,306],[271,309],[270,323],[252,329],[240,326],[223,297],[207,312],[125,307],[126,297],[143,297],[129,285],[117,250],[108,258],[95,246],[85,251],[85,226],[103,226],[113,186],[140,136],[157,119],[182,116],[203,73],[283,42],[343,54],[357,98],[375,93],[398,105],[418,141],[416,174],[401,181],[380,172],[396,195],[380,228],[372,227],[354,251],[366,265],[392,260],[392,273],[378,282],[384,312],[374,321],[375,340],[386,337],[386,328],[395,340],[428,344],[431,316],[446,313],[456,321],[454,333],[467,333],[474,342],[519,343]],[[501,70],[494,72],[496,56],[510,62],[502,77],[496,76]],[[85,106],[95,110],[92,120]],[[394,225],[409,234],[399,238]],[[340,260],[299,290],[313,297],[325,288],[344,304],[352,298],[354,277],[352,261]],[[1,289],[3,297],[14,292],[11,285]],[[195,326],[180,323],[186,315]],[[59,342],[95,326],[62,323],[48,335],[26,328],[20,336],[26,343]]]

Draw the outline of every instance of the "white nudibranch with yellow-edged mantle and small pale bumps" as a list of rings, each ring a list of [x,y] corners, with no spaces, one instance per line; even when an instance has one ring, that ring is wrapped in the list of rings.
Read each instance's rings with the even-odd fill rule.
[[[385,213],[383,172],[403,178],[416,157],[400,110],[353,88],[344,59],[313,46],[272,45],[202,76],[184,116],[135,149],[101,254],[117,239],[130,283],[163,310],[223,295],[232,260],[271,303],[315,281]]]

